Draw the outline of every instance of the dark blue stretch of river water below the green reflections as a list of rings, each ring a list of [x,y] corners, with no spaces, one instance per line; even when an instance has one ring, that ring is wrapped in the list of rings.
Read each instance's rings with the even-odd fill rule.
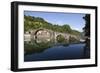
[[[85,47],[85,43],[55,45],[42,51],[33,50],[24,55],[24,61],[47,61],[47,60],[70,60],[90,58],[90,50]]]

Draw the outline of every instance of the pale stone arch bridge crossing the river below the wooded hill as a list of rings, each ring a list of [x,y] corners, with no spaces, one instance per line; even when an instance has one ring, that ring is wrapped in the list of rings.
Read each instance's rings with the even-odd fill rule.
[[[48,41],[57,39],[58,35],[62,35],[66,40],[69,40],[70,37],[74,37],[75,39],[78,39],[77,36],[69,34],[69,33],[61,33],[61,32],[55,32],[49,29],[34,29],[30,30],[28,32],[25,32],[24,34],[24,41],[30,41],[31,39],[46,39]]]

